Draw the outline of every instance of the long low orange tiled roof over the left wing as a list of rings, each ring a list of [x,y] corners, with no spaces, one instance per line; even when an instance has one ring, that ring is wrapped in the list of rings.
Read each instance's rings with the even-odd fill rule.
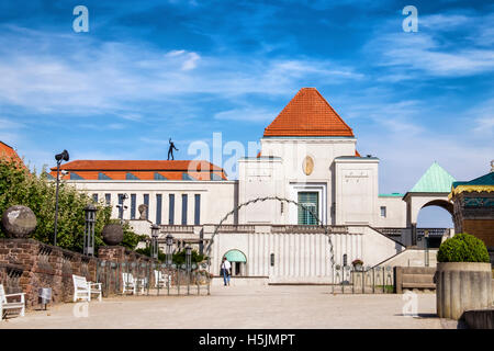
[[[182,180],[183,173],[195,180],[211,180],[212,173],[227,179],[222,168],[203,160],[75,160],[63,163],[60,169],[69,172],[63,179],[70,179],[70,173],[85,180],[98,180],[100,173],[112,180],[125,180],[127,173],[139,180],[154,180],[155,173],[167,180]],[[52,168],[50,174],[56,177],[56,167]]]

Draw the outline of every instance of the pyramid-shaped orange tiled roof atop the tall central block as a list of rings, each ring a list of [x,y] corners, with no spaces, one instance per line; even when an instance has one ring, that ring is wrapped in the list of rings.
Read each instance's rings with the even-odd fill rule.
[[[302,88],[265,136],[353,136],[351,128],[315,88]]]

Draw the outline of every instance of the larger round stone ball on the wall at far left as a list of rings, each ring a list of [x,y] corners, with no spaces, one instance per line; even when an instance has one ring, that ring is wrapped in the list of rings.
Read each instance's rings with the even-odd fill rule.
[[[27,238],[36,225],[36,216],[30,207],[15,205],[3,212],[2,229],[8,238]]]

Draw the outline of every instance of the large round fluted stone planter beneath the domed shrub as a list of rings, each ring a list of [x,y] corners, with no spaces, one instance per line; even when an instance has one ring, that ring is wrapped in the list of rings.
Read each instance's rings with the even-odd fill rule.
[[[465,310],[492,307],[491,275],[491,263],[438,263],[435,275],[437,315],[458,320]]]

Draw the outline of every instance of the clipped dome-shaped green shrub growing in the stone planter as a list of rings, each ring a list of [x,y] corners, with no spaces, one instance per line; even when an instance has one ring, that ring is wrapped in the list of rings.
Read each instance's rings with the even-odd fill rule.
[[[490,262],[485,244],[469,234],[447,239],[437,252],[438,262]]]

